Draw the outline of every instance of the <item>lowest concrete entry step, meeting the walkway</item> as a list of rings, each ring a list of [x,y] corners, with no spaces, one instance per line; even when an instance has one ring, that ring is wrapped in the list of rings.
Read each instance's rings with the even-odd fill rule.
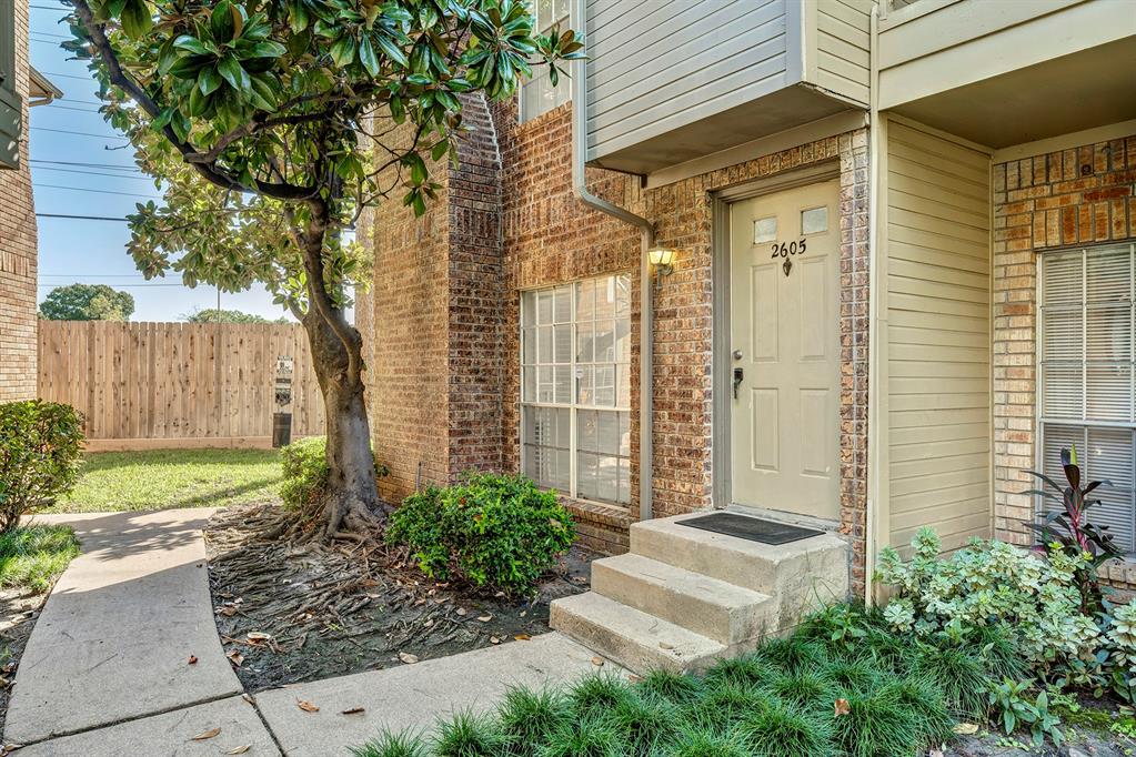
[[[700,671],[725,645],[594,591],[552,602],[549,625],[635,673]]]

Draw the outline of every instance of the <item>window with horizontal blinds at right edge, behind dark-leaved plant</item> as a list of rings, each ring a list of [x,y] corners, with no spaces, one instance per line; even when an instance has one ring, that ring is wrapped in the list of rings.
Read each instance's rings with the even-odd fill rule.
[[[1083,478],[1112,481],[1092,520],[1134,553],[1136,245],[1046,252],[1038,266],[1041,468],[1063,482],[1061,448],[1076,445]]]

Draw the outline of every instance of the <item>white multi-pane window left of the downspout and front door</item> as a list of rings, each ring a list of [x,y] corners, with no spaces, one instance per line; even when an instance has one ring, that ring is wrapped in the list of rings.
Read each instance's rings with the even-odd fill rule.
[[[630,278],[520,298],[521,469],[580,499],[630,502]]]

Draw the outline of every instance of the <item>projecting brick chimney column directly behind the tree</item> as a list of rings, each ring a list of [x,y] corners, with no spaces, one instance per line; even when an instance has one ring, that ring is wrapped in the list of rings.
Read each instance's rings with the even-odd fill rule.
[[[375,272],[357,293],[356,326],[375,449],[390,468],[379,494],[392,503],[419,480],[501,466],[498,153],[482,98],[463,104],[475,132],[459,146],[459,166],[432,167],[442,200],[416,219],[395,192],[359,222]],[[410,138],[407,128],[393,136],[399,145]]]

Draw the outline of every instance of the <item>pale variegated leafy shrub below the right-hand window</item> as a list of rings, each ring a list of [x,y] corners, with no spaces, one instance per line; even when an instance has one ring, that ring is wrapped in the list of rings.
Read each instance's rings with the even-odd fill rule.
[[[1079,478],[1069,476],[1077,499],[1069,491]],[[934,646],[917,668],[957,708],[985,704],[1008,734],[1026,730],[1035,745],[1062,741],[1051,692],[1111,690],[1128,703],[1136,693],[1136,609],[1100,598],[1100,611],[1086,612],[1097,600],[1085,594],[1096,590],[1085,578],[1093,555],[1068,539],[1047,553],[976,539],[941,558],[924,529],[909,561],[884,549],[877,574],[899,590],[882,612],[891,628]]]

